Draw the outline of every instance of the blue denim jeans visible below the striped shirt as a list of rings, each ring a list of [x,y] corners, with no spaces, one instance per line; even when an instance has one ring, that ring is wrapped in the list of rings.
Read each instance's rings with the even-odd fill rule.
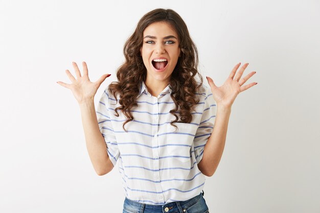
[[[165,205],[139,203],[126,197],[122,213],[209,213],[209,208],[203,198],[204,192],[202,192],[189,200]]]

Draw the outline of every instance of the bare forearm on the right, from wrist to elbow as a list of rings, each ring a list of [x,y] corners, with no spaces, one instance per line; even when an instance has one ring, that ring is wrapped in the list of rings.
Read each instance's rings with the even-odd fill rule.
[[[230,114],[230,107],[225,108],[217,105],[214,128],[204,146],[202,159],[198,163],[198,168],[204,175],[212,176],[218,167],[225,145]]]

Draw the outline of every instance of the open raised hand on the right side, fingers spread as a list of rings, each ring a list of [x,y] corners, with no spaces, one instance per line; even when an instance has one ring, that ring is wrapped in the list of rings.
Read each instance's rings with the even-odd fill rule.
[[[257,83],[253,82],[247,85],[242,86],[250,77],[252,77],[256,72],[251,72],[244,78],[241,78],[244,69],[248,66],[249,63],[245,63],[237,75],[235,76],[237,69],[239,68],[241,63],[238,63],[233,70],[231,71],[230,76],[226,79],[224,84],[220,87],[217,87],[215,83],[213,82],[212,78],[207,77],[208,83],[210,85],[213,98],[215,99],[217,106],[223,106],[223,107],[231,107],[233,102],[235,101],[238,94]],[[240,81],[239,81],[240,80]]]

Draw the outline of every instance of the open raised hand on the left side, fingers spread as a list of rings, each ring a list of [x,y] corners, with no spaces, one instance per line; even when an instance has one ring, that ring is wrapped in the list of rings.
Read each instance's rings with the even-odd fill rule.
[[[66,69],[65,73],[68,76],[68,78],[72,81],[72,84],[66,84],[61,81],[58,81],[57,83],[61,86],[64,86],[65,88],[71,89],[79,104],[84,103],[85,101],[94,100],[95,94],[99,86],[110,75],[102,75],[98,79],[98,81],[91,82],[88,76],[87,64],[84,61],[82,62],[83,76],[81,76],[80,70],[76,62],[72,62],[72,64],[75,69],[77,79],[75,79],[75,77],[70,73],[70,71]]]

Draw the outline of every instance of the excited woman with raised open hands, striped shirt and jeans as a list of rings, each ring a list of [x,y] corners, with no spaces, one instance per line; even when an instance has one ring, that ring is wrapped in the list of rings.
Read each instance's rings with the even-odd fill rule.
[[[85,62],[77,79],[66,70],[82,115],[87,150],[98,175],[119,160],[123,212],[209,212],[203,198],[205,176],[218,167],[231,106],[248,63],[238,63],[220,87],[197,71],[198,53],[182,18],[170,9],[145,14],[124,45],[125,62],[100,97],[109,75],[90,82]],[[195,76],[199,76],[199,82]],[[214,128],[213,128],[214,127]]]

